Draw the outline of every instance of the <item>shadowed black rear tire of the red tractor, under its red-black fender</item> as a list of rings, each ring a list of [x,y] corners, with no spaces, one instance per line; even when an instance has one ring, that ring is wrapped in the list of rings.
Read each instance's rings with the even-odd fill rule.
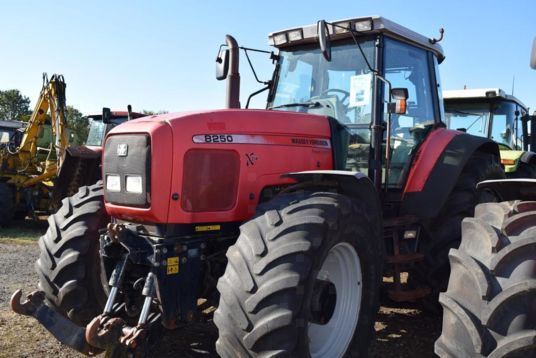
[[[416,286],[432,289],[428,308],[439,309],[437,298],[439,292],[446,289],[450,273],[448,252],[460,245],[462,220],[473,216],[477,204],[496,201],[488,192],[477,190],[476,184],[504,177],[495,156],[476,153],[465,165],[441,213],[424,225],[419,247],[424,260],[410,270],[410,280]]]

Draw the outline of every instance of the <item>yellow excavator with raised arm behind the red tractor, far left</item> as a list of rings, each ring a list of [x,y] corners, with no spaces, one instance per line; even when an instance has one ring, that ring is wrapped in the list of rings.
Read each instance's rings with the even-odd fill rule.
[[[0,226],[14,217],[50,211],[54,178],[67,146],[65,81],[43,74],[43,87],[28,125],[0,145]]]

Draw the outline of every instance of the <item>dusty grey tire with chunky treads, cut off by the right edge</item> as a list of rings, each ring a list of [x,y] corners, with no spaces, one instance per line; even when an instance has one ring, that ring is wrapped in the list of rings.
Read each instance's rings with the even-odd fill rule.
[[[442,293],[440,357],[536,356],[536,202],[479,205]]]

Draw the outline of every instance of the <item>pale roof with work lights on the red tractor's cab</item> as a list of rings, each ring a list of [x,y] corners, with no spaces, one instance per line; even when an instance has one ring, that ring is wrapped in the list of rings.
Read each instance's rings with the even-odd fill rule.
[[[357,17],[346,20],[332,21],[335,25],[355,29],[361,34],[385,33],[386,35],[418,47],[432,51],[439,62],[443,61],[443,49],[437,43],[432,43],[426,36],[416,33],[404,26],[381,16]],[[328,24],[328,31],[332,41],[350,38],[350,33],[336,26]],[[268,43],[277,48],[286,48],[299,44],[317,43],[317,24],[294,27],[282,31],[272,32],[268,35]]]

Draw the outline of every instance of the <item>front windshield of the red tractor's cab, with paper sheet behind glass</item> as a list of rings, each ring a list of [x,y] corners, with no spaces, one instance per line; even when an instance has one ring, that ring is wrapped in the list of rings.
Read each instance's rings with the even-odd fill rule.
[[[360,40],[374,64],[373,40]],[[372,73],[355,43],[333,44],[332,60],[320,49],[281,51],[279,73],[268,108],[336,118],[345,125],[370,123]]]

